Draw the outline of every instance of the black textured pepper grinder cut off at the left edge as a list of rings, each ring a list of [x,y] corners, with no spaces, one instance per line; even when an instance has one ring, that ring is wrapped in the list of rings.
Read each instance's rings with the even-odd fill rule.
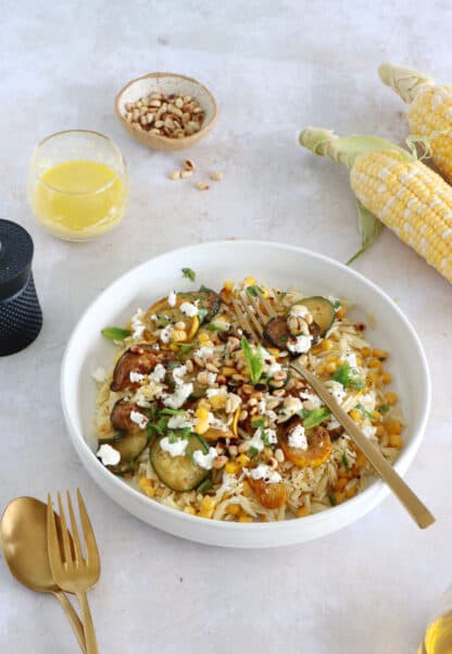
[[[0,357],[24,349],[42,326],[32,273],[32,236],[0,219]]]

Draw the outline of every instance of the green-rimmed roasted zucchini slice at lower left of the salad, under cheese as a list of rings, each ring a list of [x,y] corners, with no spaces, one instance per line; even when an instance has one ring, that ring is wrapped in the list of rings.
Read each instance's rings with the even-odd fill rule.
[[[197,449],[201,449],[204,453],[209,451],[209,447],[206,447],[206,444],[201,439],[191,434],[187,446],[187,452],[190,451],[190,453],[184,456],[171,456],[168,452],[162,449],[160,445],[161,440],[155,441],[151,447],[151,464],[160,481],[165,486],[177,493],[185,493],[198,486],[209,477],[209,470],[204,470],[204,468],[198,466],[190,458],[190,454]]]

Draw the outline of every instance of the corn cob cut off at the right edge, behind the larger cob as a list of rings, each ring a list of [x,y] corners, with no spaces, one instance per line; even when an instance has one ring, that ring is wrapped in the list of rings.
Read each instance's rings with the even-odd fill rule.
[[[410,104],[411,133],[429,139],[435,165],[452,183],[452,86],[436,86],[428,75],[392,63],[382,63],[378,74]]]

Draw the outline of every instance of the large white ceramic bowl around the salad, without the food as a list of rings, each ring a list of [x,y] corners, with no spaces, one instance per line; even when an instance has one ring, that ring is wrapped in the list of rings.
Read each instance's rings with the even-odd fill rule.
[[[172,288],[192,288],[180,269],[197,272],[197,283],[218,288],[226,279],[249,274],[279,288],[293,284],[310,295],[334,295],[356,303],[356,319],[376,317],[368,338],[391,353],[389,369],[409,419],[405,445],[395,464],[404,473],[419,446],[430,405],[430,379],[424,350],[412,325],[372,282],[321,255],[288,245],[223,242],[196,245],[151,259],[116,280],[87,309],[75,328],[63,358],[61,398],[72,442],[99,486],[125,509],[175,535],[211,545],[272,547],[309,541],[364,516],[389,493],[380,480],[343,504],[302,519],[269,523],[235,523],[189,516],[146,497],[96,458],[92,420],[96,386],[91,372],[108,367],[113,346],[102,338],[105,325],[124,324],[137,307],[147,307]],[[400,509],[401,513],[403,509]]]

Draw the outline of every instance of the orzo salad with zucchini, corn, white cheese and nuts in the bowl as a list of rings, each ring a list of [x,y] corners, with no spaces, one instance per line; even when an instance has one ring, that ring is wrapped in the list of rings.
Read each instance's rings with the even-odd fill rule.
[[[188,272],[187,272],[188,271]],[[194,284],[194,272],[184,269]],[[307,289],[309,292],[310,289]],[[261,344],[233,299],[269,303]],[[118,347],[98,383],[97,456],[148,497],[190,515],[251,522],[302,518],[362,491],[372,469],[291,357],[322,379],[393,461],[402,446],[389,354],[339,298],[248,277],[219,292],[171,291],[103,335]]]

